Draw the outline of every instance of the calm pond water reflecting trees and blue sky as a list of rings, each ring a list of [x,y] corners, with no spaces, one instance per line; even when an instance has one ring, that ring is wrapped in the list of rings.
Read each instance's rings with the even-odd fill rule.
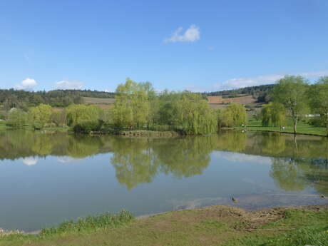
[[[324,204],[327,159],[327,138],[306,135],[8,131],[0,133],[0,227],[34,231],[123,208],[147,215],[207,205]]]

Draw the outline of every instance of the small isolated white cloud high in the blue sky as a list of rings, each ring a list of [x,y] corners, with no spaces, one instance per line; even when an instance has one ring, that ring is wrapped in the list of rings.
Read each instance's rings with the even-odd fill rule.
[[[182,27],[179,27],[173,33],[170,38],[165,39],[165,43],[175,43],[175,42],[195,42],[200,39],[200,29],[198,26],[191,25],[185,32],[182,34]]]

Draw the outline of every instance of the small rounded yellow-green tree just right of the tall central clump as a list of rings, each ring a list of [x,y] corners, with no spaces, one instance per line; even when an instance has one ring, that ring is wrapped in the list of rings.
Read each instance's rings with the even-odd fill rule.
[[[240,126],[247,121],[246,109],[241,104],[231,103],[227,108],[218,111],[218,119],[220,126]]]

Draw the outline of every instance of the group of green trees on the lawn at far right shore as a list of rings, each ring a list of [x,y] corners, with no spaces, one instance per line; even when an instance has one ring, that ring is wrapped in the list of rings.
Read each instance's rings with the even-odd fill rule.
[[[297,122],[312,114],[310,123],[324,126],[328,135],[328,76],[310,84],[302,76],[285,76],[270,91],[272,102],[262,109],[262,125],[282,126],[292,120],[294,133]]]

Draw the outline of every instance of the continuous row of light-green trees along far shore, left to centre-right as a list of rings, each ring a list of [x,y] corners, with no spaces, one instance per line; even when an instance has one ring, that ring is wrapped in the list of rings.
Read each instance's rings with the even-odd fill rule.
[[[34,128],[68,125],[76,132],[110,130],[178,131],[185,135],[217,132],[246,122],[244,106],[230,104],[227,108],[210,108],[200,93],[163,91],[156,93],[149,82],[137,83],[129,78],[119,84],[113,107],[72,103],[54,109],[41,103],[27,110],[11,108],[7,123],[13,127],[26,124]]]

